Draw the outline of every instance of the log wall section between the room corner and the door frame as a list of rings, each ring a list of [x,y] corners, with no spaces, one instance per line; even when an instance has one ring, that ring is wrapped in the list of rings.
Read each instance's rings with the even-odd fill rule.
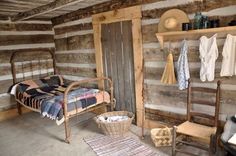
[[[54,26],[56,67],[68,80],[96,76],[91,17]]]

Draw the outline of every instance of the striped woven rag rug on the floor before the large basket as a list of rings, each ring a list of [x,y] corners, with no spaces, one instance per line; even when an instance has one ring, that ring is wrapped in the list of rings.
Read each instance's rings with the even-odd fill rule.
[[[167,156],[132,137],[97,135],[84,141],[98,156]]]

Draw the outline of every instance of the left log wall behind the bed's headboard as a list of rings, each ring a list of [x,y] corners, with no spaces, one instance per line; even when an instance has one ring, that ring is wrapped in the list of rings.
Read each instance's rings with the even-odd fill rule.
[[[52,60],[48,54],[43,52],[54,51],[54,31],[52,29],[51,21],[22,21],[22,22],[9,22],[0,21],[0,111],[9,111],[15,108],[15,100],[7,91],[13,84],[10,57],[13,52],[27,52],[22,54],[24,61],[16,63],[17,77],[24,76],[38,76],[39,72],[42,74],[46,71],[48,63],[49,70],[52,70]],[[28,53],[29,52],[29,53]],[[35,53],[38,52],[40,56],[41,69],[38,67]],[[19,59],[19,58],[18,58]],[[28,61],[28,62],[27,62]],[[32,62],[31,62],[32,61]],[[24,71],[22,71],[24,66]]]

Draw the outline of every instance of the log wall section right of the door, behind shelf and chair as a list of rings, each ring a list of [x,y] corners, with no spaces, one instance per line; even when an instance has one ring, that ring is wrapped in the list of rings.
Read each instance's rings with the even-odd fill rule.
[[[175,3],[178,3],[176,6]],[[142,7],[143,22],[143,48],[145,62],[145,87],[144,102],[146,107],[146,118],[161,120],[170,124],[179,123],[186,120],[186,98],[187,91],[178,90],[177,85],[165,85],[160,82],[167,54],[161,52],[160,45],[155,37],[158,31],[158,22],[163,12],[168,9],[178,8],[185,11],[189,18],[193,20],[194,13],[198,11],[196,6],[202,6],[203,14],[210,19],[219,18],[221,26],[227,26],[229,21],[236,19],[236,2],[212,0],[205,1],[203,4],[190,1],[176,1],[173,4],[167,2],[156,2],[146,4]],[[222,62],[222,48],[225,37],[219,37],[217,44],[219,57],[216,61],[215,80],[213,82],[201,82],[199,78],[200,59],[199,59],[199,40],[189,39],[189,66],[190,75],[194,86],[216,87],[217,80],[222,80],[222,99],[220,106],[220,119],[225,120],[227,115],[236,112],[236,77],[222,78],[219,76]],[[170,45],[174,48],[174,61],[176,63],[182,40],[172,40]],[[169,43],[165,43],[168,47]],[[209,95],[196,94],[196,98],[209,98]],[[213,100],[210,98],[210,100]],[[209,107],[194,108],[212,114],[213,109]]]

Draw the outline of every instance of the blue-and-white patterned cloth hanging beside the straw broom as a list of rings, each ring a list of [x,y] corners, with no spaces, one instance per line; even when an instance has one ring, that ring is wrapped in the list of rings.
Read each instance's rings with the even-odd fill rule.
[[[188,45],[187,41],[184,40],[177,62],[177,76],[180,90],[188,88],[188,79],[190,78],[187,53]]]

